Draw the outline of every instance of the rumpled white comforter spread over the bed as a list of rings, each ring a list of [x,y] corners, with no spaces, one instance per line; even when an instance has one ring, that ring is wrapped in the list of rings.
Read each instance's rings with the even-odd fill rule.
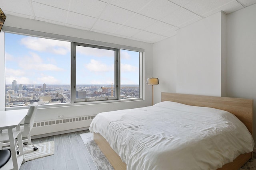
[[[110,143],[127,170],[215,170],[254,147],[233,114],[175,102],[99,113],[90,131]]]

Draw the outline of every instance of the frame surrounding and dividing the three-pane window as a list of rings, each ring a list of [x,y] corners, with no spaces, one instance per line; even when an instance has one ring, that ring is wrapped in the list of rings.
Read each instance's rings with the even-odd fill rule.
[[[34,30],[28,30],[28,29],[22,29],[22,28],[16,28],[16,27],[9,27],[5,26],[4,29],[2,29],[1,32],[6,33],[14,33],[14,34],[20,34],[20,35],[27,35],[32,37],[41,37],[46,39],[56,39],[60,41],[69,41],[70,42],[70,103],[65,104],[56,104],[56,105],[40,105],[38,108],[50,108],[50,107],[63,107],[63,106],[76,106],[76,105],[88,105],[88,104],[101,104],[101,103],[112,103],[112,102],[130,102],[130,101],[137,101],[137,100],[144,100],[144,58],[145,58],[145,51],[142,48],[138,47],[131,47],[127,45],[121,45],[121,44],[114,44],[114,43],[108,43],[103,41],[96,41],[96,40],[90,40],[90,39],[83,39],[78,37],[71,37],[67,35],[59,35],[54,33],[46,33],[46,32],[40,32],[40,31],[34,31]],[[4,42],[4,39],[3,41]],[[75,80],[75,73],[74,73],[74,43],[81,43],[86,45],[92,45],[92,46],[102,46],[106,48],[112,48],[112,49],[118,49],[118,73],[115,73],[115,77],[117,77],[117,82],[115,82],[115,93],[116,93],[116,100],[97,100],[97,101],[80,101],[80,102],[74,102],[76,94],[74,94],[74,80]],[[130,51],[138,51],[140,53],[140,80],[139,80],[139,87],[140,87],[140,97],[139,98],[131,98],[131,99],[120,99],[120,51],[121,49],[124,50],[130,50]],[[5,98],[5,95],[4,95]],[[16,107],[5,107],[6,110],[14,110],[14,109],[25,109],[26,106],[16,106]]]

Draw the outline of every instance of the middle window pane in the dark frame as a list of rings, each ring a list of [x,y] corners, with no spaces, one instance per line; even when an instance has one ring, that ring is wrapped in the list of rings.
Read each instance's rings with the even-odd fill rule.
[[[75,102],[116,100],[118,49],[74,43]]]

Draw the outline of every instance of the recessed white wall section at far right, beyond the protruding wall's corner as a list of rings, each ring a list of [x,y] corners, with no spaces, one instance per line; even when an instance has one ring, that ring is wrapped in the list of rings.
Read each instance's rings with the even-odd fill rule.
[[[254,99],[256,132],[256,4],[227,17],[227,96]],[[256,141],[256,135],[254,135]]]

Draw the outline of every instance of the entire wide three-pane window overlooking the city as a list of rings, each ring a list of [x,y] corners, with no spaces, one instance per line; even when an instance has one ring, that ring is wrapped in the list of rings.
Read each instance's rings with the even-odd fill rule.
[[[5,32],[6,107],[142,98],[143,49],[21,31]]]

